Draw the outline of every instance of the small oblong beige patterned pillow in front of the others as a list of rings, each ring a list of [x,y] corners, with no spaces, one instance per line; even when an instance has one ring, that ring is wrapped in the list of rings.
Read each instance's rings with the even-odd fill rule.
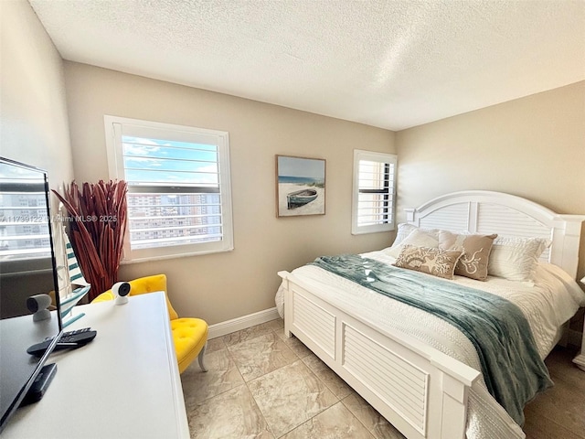
[[[433,276],[452,279],[455,265],[463,252],[436,247],[416,247],[405,244],[394,265]]]

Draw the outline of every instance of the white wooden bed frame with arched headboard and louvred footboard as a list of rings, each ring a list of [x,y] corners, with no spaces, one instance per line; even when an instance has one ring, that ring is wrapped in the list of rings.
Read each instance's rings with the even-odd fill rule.
[[[525,198],[455,192],[406,209],[422,228],[545,237],[543,259],[576,277],[582,215],[558,215]],[[467,396],[480,372],[410,337],[381,331],[331,305],[292,273],[284,288],[284,333],[294,334],[409,439],[465,436]]]

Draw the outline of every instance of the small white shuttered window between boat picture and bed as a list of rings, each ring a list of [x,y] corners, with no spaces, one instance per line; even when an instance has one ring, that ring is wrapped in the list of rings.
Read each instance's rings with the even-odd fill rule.
[[[354,150],[352,234],[394,230],[397,156]]]

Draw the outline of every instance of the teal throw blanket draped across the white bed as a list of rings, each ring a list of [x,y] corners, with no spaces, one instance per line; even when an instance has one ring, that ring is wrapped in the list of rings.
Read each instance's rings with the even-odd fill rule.
[[[460,329],[477,350],[488,391],[519,425],[525,404],[552,385],[527,319],[510,301],[358,255],[324,256],[312,264]]]

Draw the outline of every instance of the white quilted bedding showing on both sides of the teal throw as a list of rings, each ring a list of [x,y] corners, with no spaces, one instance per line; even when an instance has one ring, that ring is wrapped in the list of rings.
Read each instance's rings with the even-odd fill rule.
[[[384,251],[369,252],[363,256],[379,262],[395,261]],[[351,310],[352,314],[366,317],[380,329],[415,337],[473,369],[481,370],[473,344],[461,331],[441,318],[372,292],[314,265],[297,268],[293,274],[303,282],[303,286],[309,287],[312,293],[325,301],[341,309]],[[585,293],[569,274],[544,262],[538,264],[534,286],[495,277],[480,282],[455,276],[450,282],[497,294],[518,305],[532,328],[542,359],[558,342],[560,327],[577,312],[579,306],[585,306]],[[276,302],[280,312],[282,293],[277,294]],[[470,392],[467,437],[525,437],[521,428],[489,394],[484,380],[477,380]]]

